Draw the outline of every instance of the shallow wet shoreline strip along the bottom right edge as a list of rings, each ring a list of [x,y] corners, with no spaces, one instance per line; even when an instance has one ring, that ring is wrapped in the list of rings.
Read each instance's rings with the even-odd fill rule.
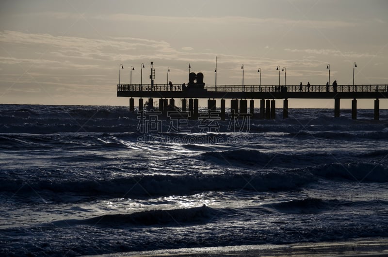
[[[379,256],[388,257],[388,238],[359,238],[344,241],[301,242],[291,244],[236,245],[225,247],[196,247],[91,255],[87,257],[327,257]]]

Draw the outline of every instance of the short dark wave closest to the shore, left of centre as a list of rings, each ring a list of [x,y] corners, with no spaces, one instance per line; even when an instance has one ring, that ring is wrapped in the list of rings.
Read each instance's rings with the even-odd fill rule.
[[[205,205],[188,209],[146,210],[131,214],[107,214],[84,220],[63,220],[53,222],[53,225],[183,225],[204,224],[212,221],[221,210],[209,208]]]

